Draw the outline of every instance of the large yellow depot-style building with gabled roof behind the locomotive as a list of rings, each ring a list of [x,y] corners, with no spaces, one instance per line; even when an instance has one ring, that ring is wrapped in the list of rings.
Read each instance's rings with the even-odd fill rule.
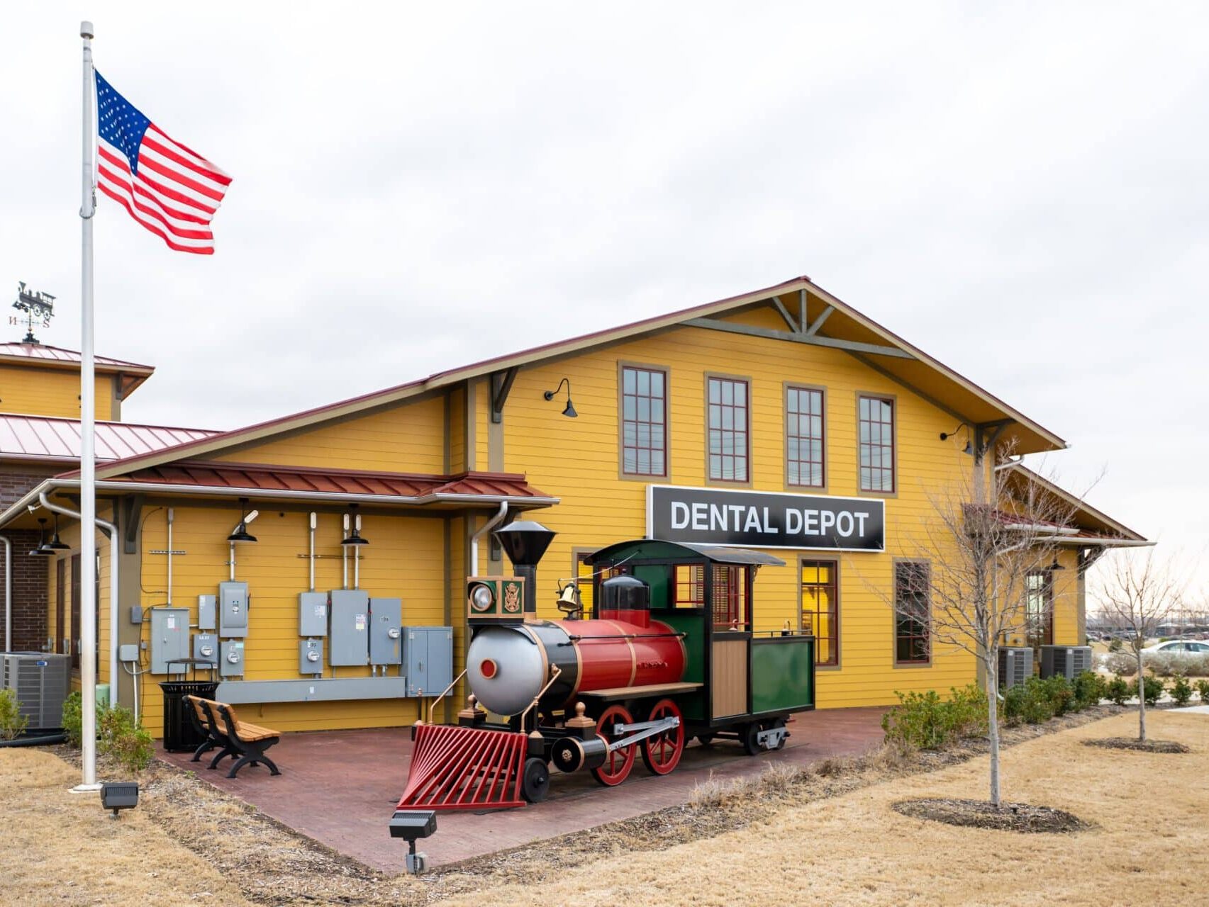
[[[409,684],[393,650],[389,663],[334,664],[345,643],[317,630],[328,617],[303,621],[322,604],[334,622],[352,601],[349,632],[369,634],[398,598],[401,627],[452,628],[456,675],[463,577],[511,574],[484,529],[537,510],[533,518],[557,531],[538,574],[543,616],[556,616],[556,581],[585,576],[584,556],[608,543],[648,534],[742,543],[785,560],[759,572],[756,629],[815,633],[820,708],[947,690],[977,678],[974,658],[896,618],[895,607],[902,577],[937,568],[918,563],[933,498],[993,484],[996,465],[1013,481],[1043,482],[996,464],[996,452],[1064,447],[797,278],[100,464],[98,512],[116,527],[116,558],[100,539],[99,676],[110,681],[116,559],[115,644],[128,647],[116,692],[129,704],[137,679],[152,729],[154,684],[166,678],[162,665],[152,670],[152,629],[179,634],[181,622],[190,653],[206,634],[215,646],[208,657],[229,665],[219,698],[251,704],[254,720],[283,729],[410,723],[440,690]],[[33,525],[27,506],[41,495],[73,507],[77,487],[71,473],[47,478],[0,514],[0,527]],[[1071,505],[1057,569],[1030,593],[1052,600],[1052,620],[1028,643],[1081,643],[1086,565],[1106,546],[1144,541]],[[342,545],[358,517],[369,543]],[[229,542],[241,534],[255,542]],[[69,581],[58,564],[48,569],[52,589]],[[237,586],[220,588],[232,577]],[[348,589],[380,604],[324,594]],[[302,595],[311,591],[319,595]],[[247,629],[210,629],[212,607]],[[323,646],[318,661],[306,661],[308,645]],[[226,662],[231,652],[238,664]]]

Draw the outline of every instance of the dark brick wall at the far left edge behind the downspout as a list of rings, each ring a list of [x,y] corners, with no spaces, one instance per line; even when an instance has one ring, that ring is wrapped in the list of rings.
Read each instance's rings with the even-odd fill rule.
[[[51,470],[21,471],[0,467],[0,511],[7,510]],[[7,529],[2,534],[12,542],[12,649],[40,651],[50,634],[46,589],[46,558],[31,558],[37,546],[36,529]],[[0,547],[0,609],[4,607],[5,565]],[[4,617],[0,616],[0,646],[4,645]]]

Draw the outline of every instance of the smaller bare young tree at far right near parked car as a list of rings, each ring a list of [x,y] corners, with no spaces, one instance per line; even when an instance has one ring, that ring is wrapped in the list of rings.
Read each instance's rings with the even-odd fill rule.
[[[1094,598],[1117,627],[1129,632],[1127,643],[1138,664],[1138,739],[1146,739],[1146,670],[1143,649],[1161,623],[1182,606],[1185,580],[1172,560],[1136,551],[1116,552],[1099,572]]]

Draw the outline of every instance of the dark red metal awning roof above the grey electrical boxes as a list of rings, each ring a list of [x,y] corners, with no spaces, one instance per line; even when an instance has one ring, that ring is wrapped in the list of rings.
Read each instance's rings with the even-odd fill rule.
[[[198,489],[248,489],[331,495],[377,495],[422,499],[416,502],[478,499],[554,501],[514,472],[459,472],[433,476],[412,472],[267,466],[247,463],[170,463],[137,470],[121,479],[143,484],[195,486]]]

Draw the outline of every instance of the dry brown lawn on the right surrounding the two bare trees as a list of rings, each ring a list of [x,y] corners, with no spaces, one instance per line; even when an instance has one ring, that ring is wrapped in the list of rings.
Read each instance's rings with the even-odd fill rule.
[[[978,757],[783,809],[768,822],[705,841],[620,854],[542,885],[507,885],[446,903],[1204,903],[1209,721],[1152,715],[1156,733],[1192,749],[1184,756],[1082,743],[1128,733],[1132,721],[1121,715],[1003,752],[1012,800],[1069,810],[1094,822],[1087,832],[958,828],[892,810],[906,797],[984,797],[987,760]]]

